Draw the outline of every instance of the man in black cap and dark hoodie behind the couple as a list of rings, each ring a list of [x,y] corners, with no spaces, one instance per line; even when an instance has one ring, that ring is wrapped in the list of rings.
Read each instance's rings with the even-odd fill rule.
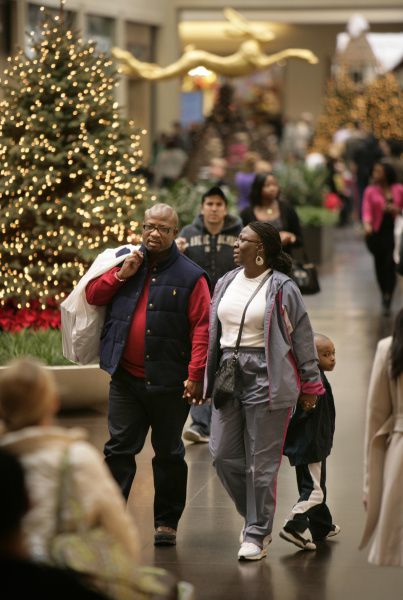
[[[235,267],[233,246],[242,229],[240,219],[228,214],[227,205],[222,189],[212,187],[202,196],[200,214],[176,239],[181,252],[206,271],[212,291],[218,279]],[[192,423],[183,434],[185,440],[208,442],[211,405],[192,406],[190,416]]]

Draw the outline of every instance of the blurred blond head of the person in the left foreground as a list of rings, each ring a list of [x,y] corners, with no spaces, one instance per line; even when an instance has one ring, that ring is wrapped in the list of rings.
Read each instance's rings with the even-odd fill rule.
[[[0,417],[9,431],[43,425],[57,412],[51,372],[33,358],[19,358],[0,373]]]

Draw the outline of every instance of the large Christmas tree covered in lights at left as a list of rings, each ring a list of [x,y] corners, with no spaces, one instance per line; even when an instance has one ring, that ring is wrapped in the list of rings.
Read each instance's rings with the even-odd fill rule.
[[[63,2],[33,50],[1,82],[0,304],[16,311],[57,305],[100,250],[125,243],[146,192],[117,70],[67,29]]]

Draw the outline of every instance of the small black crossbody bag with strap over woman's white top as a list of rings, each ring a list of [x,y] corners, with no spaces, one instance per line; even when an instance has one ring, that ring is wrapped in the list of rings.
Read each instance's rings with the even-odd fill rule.
[[[214,402],[214,406],[216,408],[222,408],[229,400],[234,398],[236,389],[237,389],[237,376],[238,376],[238,353],[239,346],[241,343],[242,329],[245,322],[246,310],[249,304],[252,302],[253,298],[256,296],[261,287],[266,283],[268,278],[270,277],[271,272],[264,277],[264,279],[260,282],[256,290],[253,292],[252,296],[249,298],[248,302],[242,313],[241,324],[239,326],[238,337],[236,340],[234,352],[231,356],[223,359],[218,367],[215,377],[214,377],[214,385],[213,385],[213,393],[212,398]]]

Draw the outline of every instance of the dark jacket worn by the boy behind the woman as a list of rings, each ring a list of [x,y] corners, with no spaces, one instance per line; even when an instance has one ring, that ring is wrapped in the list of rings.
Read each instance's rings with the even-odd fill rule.
[[[330,383],[323,371],[320,375],[326,391],[316,408],[306,412],[297,404],[288,427],[283,453],[292,466],[321,462],[332,449],[336,410]]]

